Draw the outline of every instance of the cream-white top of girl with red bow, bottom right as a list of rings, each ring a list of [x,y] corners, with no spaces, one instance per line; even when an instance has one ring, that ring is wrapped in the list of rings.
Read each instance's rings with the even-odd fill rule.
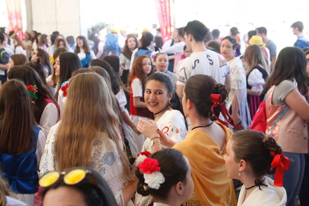
[[[245,201],[246,188],[241,187],[237,206],[285,206],[286,205],[286,190],[284,187],[277,187],[273,185],[273,180],[265,177],[264,184],[266,186],[256,187]]]

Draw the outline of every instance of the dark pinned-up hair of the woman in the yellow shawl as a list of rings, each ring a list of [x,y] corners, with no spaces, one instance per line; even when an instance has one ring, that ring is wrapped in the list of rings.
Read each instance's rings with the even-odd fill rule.
[[[197,74],[188,79],[184,86],[186,100],[190,99],[196,108],[199,115],[215,121],[214,114],[220,115],[220,106],[214,108],[214,113],[211,111],[213,105],[210,95],[222,95],[222,100],[227,98],[227,89],[223,84],[217,82],[211,76],[205,74]]]

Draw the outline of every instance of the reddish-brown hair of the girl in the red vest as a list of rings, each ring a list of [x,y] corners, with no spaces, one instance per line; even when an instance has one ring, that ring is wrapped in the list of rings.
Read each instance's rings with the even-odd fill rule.
[[[149,58],[150,59],[150,62],[151,62],[151,71],[149,74],[145,74],[144,70],[143,70],[143,59],[144,58]],[[154,68],[153,68],[153,65],[152,65],[152,61],[151,61],[151,58],[148,57],[147,55],[141,55],[139,57],[137,57],[135,60],[134,60],[134,63],[133,63],[133,67],[132,67],[132,70],[129,74],[129,78],[128,78],[128,86],[131,86],[131,83],[133,81],[133,78],[135,76],[137,76],[139,78],[139,80],[141,80],[142,82],[142,86],[143,86],[143,91],[144,91],[144,87],[145,87],[145,82],[146,82],[146,79],[147,77],[149,77],[150,74],[154,73]]]

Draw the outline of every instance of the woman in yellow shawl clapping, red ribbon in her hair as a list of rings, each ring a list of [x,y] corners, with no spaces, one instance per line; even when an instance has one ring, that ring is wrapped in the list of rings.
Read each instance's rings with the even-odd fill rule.
[[[224,103],[226,98],[225,85],[217,84],[208,75],[194,75],[184,87],[182,104],[186,116],[191,120],[192,130],[183,141],[175,144],[157,129],[152,120],[140,120],[138,123],[138,130],[152,139],[152,153],[161,149],[163,144],[179,150],[188,158],[192,167],[194,192],[191,200],[184,203],[185,206],[237,204],[232,180],[227,178],[223,159],[226,142],[232,132],[218,118],[220,112],[229,117]],[[216,119],[219,122],[214,123]]]

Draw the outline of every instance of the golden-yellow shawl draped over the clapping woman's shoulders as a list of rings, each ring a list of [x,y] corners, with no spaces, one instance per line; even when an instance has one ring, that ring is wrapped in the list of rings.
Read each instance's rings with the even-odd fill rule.
[[[225,131],[227,142],[232,131],[221,123],[216,124]],[[226,153],[225,147],[223,155]],[[192,130],[173,148],[182,152],[192,167],[194,192],[184,205],[237,204],[232,180],[227,178],[224,156],[219,155],[220,147],[210,136],[200,130]]]

